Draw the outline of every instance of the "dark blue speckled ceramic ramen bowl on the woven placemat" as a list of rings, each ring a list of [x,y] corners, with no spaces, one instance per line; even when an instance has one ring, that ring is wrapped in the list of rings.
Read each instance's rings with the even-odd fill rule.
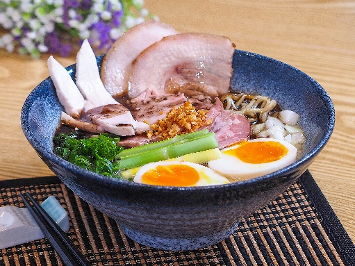
[[[101,60],[99,56],[99,65]],[[74,78],[75,65],[67,70]],[[327,92],[304,72],[278,60],[236,50],[231,87],[276,99],[282,109],[300,115],[307,140],[295,163],[247,181],[190,188],[145,185],[89,172],[53,153],[62,107],[51,78],[35,87],[24,102],[22,129],[51,171],[81,199],[117,220],[129,238],[158,249],[199,249],[229,237],[242,217],[295,182],[327,143],[334,126]]]

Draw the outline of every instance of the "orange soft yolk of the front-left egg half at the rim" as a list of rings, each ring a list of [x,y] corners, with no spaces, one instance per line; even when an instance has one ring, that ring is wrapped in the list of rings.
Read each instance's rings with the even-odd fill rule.
[[[189,165],[158,165],[142,175],[142,183],[185,187],[195,185],[199,173]]]

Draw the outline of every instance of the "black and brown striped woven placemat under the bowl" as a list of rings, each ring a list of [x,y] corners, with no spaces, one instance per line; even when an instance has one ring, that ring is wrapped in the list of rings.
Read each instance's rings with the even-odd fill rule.
[[[54,195],[69,213],[68,235],[92,265],[355,265],[355,246],[309,172],[279,198],[242,219],[233,235],[205,249],[164,251],[133,242],[117,222],[55,176],[0,182],[0,206]],[[63,265],[47,239],[1,250],[0,265]]]

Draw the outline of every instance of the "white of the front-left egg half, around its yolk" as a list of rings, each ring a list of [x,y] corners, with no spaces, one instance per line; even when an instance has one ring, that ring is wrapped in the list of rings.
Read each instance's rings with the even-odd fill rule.
[[[135,174],[133,181],[136,183],[143,183],[142,182],[143,174],[145,174],[145,172],[147,172],[149,169],[156,168],[158,165],[167,166],[167,165],[176,165],[176,164],[188,165],[197,170],[197,172],[199,173],[199,181],[197,181],[197,183],[191,186],[222,185],[222,184],[230,183],[226,177],[217,174],[215,171],[213,171],[213,169],[210,169],[204,165],[199,165],[197,163],[189,163],[189,162],[178,162],[178,161],[160,161],[156,163],[148,163],[147,165],[143,165]]]

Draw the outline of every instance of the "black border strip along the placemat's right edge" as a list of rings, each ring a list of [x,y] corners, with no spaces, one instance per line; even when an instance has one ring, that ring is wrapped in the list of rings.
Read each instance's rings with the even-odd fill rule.
[[[311,203],[313,203],[318,215],[322,218],[324,229],[336,245],[336,248],[338,248],[339,253],[348,265],[355,265],[355,244],[308,170],[299,178],[299,183],[301,183],[309,199],[311,199]]]

